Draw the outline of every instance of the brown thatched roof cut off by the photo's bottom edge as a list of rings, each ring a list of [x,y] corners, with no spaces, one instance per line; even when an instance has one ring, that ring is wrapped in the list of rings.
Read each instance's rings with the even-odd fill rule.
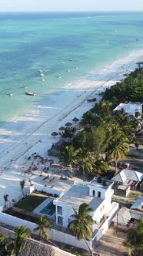
[[[42,242],[25,239],[25,246],[22,251],[18,253],[18,256],[73,256],[67,251],[62,251],[55,246],[44,244]]]

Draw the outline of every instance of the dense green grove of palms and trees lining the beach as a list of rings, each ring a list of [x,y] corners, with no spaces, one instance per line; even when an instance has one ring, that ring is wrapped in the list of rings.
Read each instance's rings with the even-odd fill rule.
[[[129,145],[135,143],[135,130],[141,129],[141,114],[130,120],[124,109],[113,111],[119,103],[143,102],[143,68],[135,69],[121,83],[105,90],[99,103],[95,103],[81,119],[82,130],[62,145],[61,161],[65,166],[77,167],[92,177],[108,177],[109,165],[123,159]],[[136,143],[136,146],[137,143]]]

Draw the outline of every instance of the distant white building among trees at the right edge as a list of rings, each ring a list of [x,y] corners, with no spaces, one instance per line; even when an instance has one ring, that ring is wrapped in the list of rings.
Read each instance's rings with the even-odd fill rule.
[[[141,103],[120,103],[113,111],[125,109],[125,113],[128,113],[128,115],[132,118],[135,116],[135,113],[142,113],[142,104]]]

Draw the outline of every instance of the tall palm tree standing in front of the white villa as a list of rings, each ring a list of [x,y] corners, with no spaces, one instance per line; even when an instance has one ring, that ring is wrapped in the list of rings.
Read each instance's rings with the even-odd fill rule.
[[[73,208],[75,211],[75,209]],[[91,207],[88,207],[88,204],[83,203],[79,206],[78,213],[75,211],[75,214],[71,215],[71,218],[73,219],[68,224],[68,229],[71,231],[71,233],[75,234],[75,237],[78,239],[78,241],[81,241],[84,239],[85,243],[88,246],[88,249],[92,254],[91,248],[89,247],[86,239],[90,240],[92,236],[91,231],[91,224],[94,224],[95,221],[93,221],[91,215],[92,209]]]

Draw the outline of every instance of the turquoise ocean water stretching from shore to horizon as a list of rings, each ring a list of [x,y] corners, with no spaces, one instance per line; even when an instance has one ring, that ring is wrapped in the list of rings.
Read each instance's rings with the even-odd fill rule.
[[[141,12],[0,13],[0,127],[142,48]]]

